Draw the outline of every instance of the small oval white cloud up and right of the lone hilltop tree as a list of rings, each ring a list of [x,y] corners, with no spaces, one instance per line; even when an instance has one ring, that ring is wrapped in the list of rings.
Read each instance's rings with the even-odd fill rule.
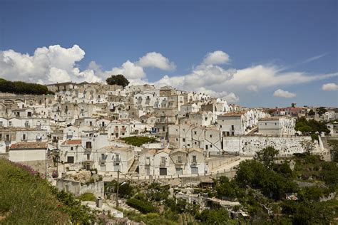
[[[168,58],[156,52],[145,54],[138,60],[138,64],[142,67],[154,67],[161,70],[175,70],[176,68],[175,63],[170,62]]]

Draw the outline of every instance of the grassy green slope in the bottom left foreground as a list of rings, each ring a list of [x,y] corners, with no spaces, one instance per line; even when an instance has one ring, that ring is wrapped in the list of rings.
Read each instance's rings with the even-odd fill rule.
[[[89,224],[96,218],[29,167],[0,159],[0,224]]]

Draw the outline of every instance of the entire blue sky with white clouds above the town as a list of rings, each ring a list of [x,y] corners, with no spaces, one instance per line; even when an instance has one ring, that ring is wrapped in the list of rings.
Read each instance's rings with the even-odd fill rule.
[[[0,1],[0,76],[51,83],[124,72],[250,107],[338,106],[337,15],[337,1],[325,0]],[[48,60],[33,58],[42,47]]]

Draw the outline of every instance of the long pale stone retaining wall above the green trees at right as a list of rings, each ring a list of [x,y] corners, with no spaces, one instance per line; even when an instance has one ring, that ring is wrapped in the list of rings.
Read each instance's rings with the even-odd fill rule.
[[[226,152],[239,152],[240,155],[255,155],[255,152],[267,146],[280,150],[280,155],[302,153],[302,141],[312,141],[311,137],[252,137],[235,136],[223,137],[223,150]]]

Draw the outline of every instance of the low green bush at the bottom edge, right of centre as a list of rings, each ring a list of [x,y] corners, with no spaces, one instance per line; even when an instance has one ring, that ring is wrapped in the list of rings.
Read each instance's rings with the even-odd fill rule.
[[[198,219],[202,224],[229,224],[229,213],[226,209],[205,209]]]

